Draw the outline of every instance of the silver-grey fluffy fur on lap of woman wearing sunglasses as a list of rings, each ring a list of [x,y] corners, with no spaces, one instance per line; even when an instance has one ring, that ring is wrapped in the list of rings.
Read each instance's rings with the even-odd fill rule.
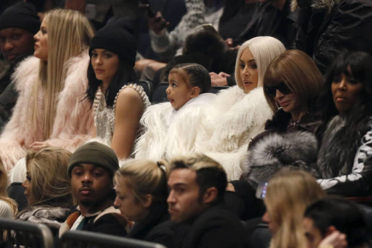
[[[317,159],[318,141],[310,132],[271,133],[255,143],[242,161],[243,178],[254,188],[283,167],[316,175],[310,168]]]

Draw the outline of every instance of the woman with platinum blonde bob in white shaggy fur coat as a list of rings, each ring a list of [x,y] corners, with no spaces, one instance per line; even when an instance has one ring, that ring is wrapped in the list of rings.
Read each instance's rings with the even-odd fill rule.
[[[263,75],[271,60],[283,51],[284,45],[270,36],[243,43],[235,62],[237,85],[220,91],[206,111],[210,114],[196,146],[224,167],[229,180],[240,177],[240,156],[273,114],[263,95]]]

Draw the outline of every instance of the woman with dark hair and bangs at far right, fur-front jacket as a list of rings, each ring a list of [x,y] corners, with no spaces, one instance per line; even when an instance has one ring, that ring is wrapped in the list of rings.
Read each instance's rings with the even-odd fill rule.
[[[328,194],[370,195],[372,180],[372,56],[345,52],[326,74],[317,171]]]

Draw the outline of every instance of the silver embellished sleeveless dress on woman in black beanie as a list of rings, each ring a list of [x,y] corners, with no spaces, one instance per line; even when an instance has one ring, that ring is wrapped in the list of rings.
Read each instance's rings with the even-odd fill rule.
[[[124,88],[133,88],[135,89],[138,94],[140,95],[144,108],[148,107],[150,105],[150,101],[143,90],[142,86],[130,83],[126,84],[117,92],[116,97],[114,99],[114,104],[112,107],[107,107],[106,105],[106,99],[104,94],[101,91],[101,88],[98,87],[97,92],[95,93],[94,98],[94,124],[97,129],[97,137],[100,137],[104,139],[108,144],[111,144],[113,133],[115,130],[115,106],[116,106],[116,99],[119,95],[120,91]],[[140,135],[140,126],[137,130],[137,136]]]

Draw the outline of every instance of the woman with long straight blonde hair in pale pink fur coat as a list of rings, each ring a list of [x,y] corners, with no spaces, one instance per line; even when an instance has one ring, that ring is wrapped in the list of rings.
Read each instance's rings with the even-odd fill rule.
[[[48,12],[35,34],[34,56],[12,75],[19,97],[0,136],[0,157],[7,171],[27,149],[46,146],[73,151],[93,136],[88,85],[88,48],[94,32],[77,11]]]

